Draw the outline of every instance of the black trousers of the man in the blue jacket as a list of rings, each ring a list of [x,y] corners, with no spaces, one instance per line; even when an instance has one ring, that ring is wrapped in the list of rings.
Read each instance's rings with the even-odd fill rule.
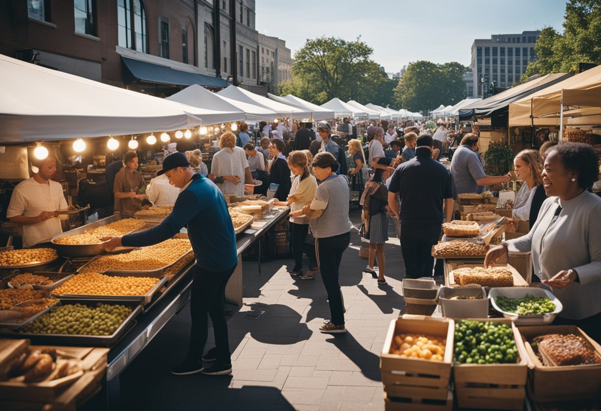
[[[225,271],[215,272],[203,270],[194,266],[194,280],[192,281],[192,297],[190,310],[192,313],[192,329],[190,332],[190,345],[188,358],[198,360],[203,357],[204,346],[209,335],[210,315],[215,333],[215,348],[219,364],[230,364],[230,342],[228,341],[227,321],[224,312],[225,285],[230,279],[236,266]]]

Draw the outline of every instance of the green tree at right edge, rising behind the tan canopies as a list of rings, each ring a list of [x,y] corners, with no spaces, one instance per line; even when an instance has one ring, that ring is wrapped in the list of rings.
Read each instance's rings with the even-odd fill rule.
[[[564,33],[546,27],[534,50],[536,61],[528,64],[520,79],[549,73],[578,73],[578,63],[601,64],[601,3],[599,0],[570,0],[566,4]]]

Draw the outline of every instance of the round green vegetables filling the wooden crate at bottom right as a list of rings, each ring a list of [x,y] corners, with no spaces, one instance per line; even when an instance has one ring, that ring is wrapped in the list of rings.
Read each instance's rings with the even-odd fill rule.
[[[508,324],[457,321],[454,361],[462,364],[515,364],[517,347]]]

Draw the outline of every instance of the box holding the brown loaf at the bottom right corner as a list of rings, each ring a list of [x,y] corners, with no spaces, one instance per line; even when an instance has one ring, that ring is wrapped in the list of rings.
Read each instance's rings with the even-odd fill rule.
[[[545,367],[529,341],[545,334],[580,335],[601,355],[601,346],[576,326],[517,327],[523,338],[528,360],[528,397],[537,402],[581,400],[601,394],[601,364]]]

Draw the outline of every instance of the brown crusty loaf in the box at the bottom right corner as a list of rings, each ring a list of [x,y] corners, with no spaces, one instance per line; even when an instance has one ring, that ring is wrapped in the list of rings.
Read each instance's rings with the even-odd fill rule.
[[[546,366],[601,364],[601,358],[587,341],[574,334],[547,334],[532,339]]]

